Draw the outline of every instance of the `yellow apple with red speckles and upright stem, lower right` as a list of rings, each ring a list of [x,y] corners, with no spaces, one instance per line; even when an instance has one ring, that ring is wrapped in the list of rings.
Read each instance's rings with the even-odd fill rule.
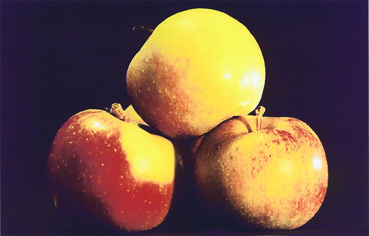
[[[206,134],[195,160],[202,199],[246,226],[295,229],[320,208],[328,185],[323,146],[295,118],[232,118]]]

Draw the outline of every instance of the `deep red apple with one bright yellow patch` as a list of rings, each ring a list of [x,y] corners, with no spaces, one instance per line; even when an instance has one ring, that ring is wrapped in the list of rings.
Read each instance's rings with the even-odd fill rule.
[[[152,229],[166,217],[175,178],[173,144],[100,110],[69,118],[50,148],[48,177],[63,213],[114,229]]]

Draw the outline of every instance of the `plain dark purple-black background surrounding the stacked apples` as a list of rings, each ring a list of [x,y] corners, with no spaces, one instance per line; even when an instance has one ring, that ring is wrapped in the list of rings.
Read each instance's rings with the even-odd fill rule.
[[[368,235],[368,1],[1,1],[1,235],[118,234],[56,211],[49,146],[74,114],[129,105],[125,73],[149,36],[134,25],[155,28],[197,7],[223,11],[254,35],[266,64],[260,105],[318,134],[328,190],[293,231],[211,222],[189,196],[186,211],[143,234]]]

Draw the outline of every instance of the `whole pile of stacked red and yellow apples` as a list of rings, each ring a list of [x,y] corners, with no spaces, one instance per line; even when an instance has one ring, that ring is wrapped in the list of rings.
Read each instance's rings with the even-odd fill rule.
[[[237,20],[211,9],[167,18],[133,58],[126,84],[126,111],[83,111],[55,136],[48,176],[63,212],[152,229],[167,216],[182,158],[193,159],[201,201],[239,224],[294,229],[320,208],[328,167],[318,136],[296,118],[263,117],[263,107],[248,115],[265,64]]]

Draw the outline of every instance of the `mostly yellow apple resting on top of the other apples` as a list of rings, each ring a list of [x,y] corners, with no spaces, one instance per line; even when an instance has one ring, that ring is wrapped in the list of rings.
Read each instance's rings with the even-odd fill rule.
[[[249,30],[229,15],[190,9],[160,23],[127,71],[134,109],[172,138],[202,135],[259,104],[265,64]]]

